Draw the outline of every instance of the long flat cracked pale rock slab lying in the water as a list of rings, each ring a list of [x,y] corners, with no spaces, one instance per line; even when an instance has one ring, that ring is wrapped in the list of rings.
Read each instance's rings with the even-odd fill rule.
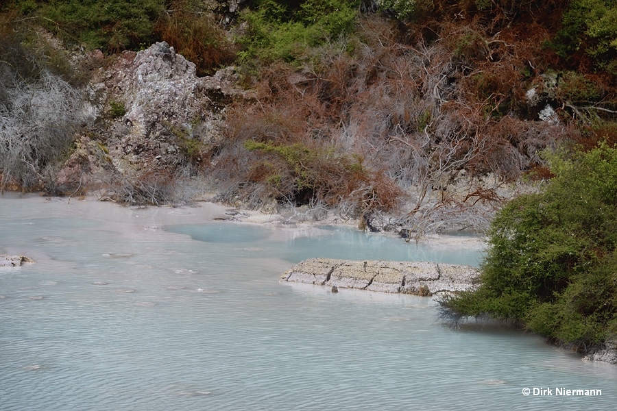
[[[472,266],[456,264],[309,258],[291,267],[279,281],[430,296],[469,290],[478,276]]]

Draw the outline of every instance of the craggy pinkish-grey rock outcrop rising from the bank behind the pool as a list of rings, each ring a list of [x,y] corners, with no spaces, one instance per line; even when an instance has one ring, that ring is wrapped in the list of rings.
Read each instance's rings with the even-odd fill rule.
[[[251,97],[237,86],[234,67],[197,77],[195,64],[166,42],[88,61],[98,66],[89,86],[98,121],[58,173],[62,192],[190,177],[220,145],[226,106]]]

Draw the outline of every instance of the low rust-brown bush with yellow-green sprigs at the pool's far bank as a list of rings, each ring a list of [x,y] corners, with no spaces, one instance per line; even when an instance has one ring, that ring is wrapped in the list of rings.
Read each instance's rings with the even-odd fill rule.
[[[333,145],[330,136],[319,134],[315,116],[300,116],[310,111],[307,101],[284,103],[264,110],[237,109],[216,173],[254,184],[253,189],[243,184],[247,198],[260,190],[261,195],[295,205],[351,202],[356,213],[396,206],[400,190],[394,182],[365,168],[361,156]]]

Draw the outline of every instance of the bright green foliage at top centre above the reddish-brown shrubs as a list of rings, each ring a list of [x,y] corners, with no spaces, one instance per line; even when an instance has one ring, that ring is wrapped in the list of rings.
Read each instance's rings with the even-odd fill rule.
[[[278,0],[258,0],[254,9],[242,14],[248,32],[240,39],[241,62],[298,60],[309,47],[351,32],[358,8],[357,0],[306,0],[296,8]]]

